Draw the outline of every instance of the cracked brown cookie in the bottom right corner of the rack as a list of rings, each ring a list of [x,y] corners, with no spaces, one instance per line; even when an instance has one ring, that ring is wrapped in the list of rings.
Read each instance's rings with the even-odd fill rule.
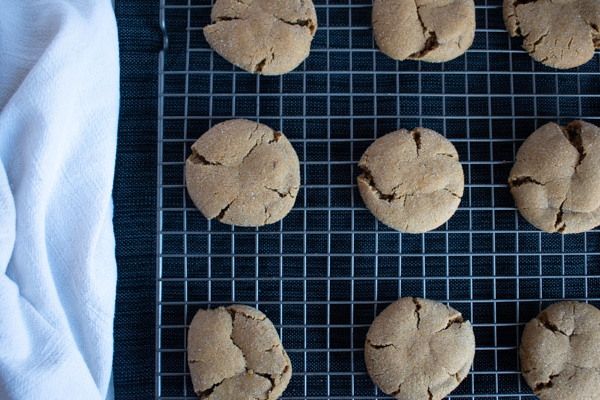
[[[600,310],[563,301],[546,308],[521,338],[521,369],[542,400],[591,400],[600,393]]]

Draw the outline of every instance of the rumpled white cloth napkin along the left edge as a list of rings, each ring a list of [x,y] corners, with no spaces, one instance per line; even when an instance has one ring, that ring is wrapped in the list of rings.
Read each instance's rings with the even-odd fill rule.
[[[0,0],[0,399],[101,399],[119,107],[110,0]]]

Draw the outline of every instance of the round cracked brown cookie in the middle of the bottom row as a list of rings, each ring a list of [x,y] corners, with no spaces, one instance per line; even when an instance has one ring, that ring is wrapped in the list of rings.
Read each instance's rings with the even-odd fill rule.
[[[469,374],[474,357],[471,323],[452,307],[419,298],[383,310],[365,343],[371,379],[397,399],[442,399]]]

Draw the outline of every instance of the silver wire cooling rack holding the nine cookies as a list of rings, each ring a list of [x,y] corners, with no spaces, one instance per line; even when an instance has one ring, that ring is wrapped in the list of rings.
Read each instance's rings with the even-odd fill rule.
[[[308,59],[283,76],[233,67],[204,40],[210,0],[161,0],[168,50],[159,65],[156,397],[195,399],[186,333],[199,308],[258,306],[292,360],[287,399],[388,398],[363,360],[375,316],[404,296],[443,301],[471,320],[477,354],[453,399],[533,399],[519,373],[523,325],[561,299],[600,300],[600,231],[542,233],[516,211],[507,178],[522,141],[548,121],[599,124],[600,69],[556,71],[510,39],[501,0],[475,0],[471,49],[443,64],[396,62],[370,28],[371,0],[316,0]],[[188,198],[191,144],[231,118],[279,129],[302,187],[281,222],[207,221]],[[450,221],[394,232],[356,187],[364,150],[425,126],[456,146],[465,196]]]

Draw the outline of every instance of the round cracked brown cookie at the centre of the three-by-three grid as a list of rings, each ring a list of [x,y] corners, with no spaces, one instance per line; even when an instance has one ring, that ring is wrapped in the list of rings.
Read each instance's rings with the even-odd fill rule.
[[[464,190],[458,153],[425,128],[401,129],[377,139],[359,162],[358,188],[367,208],[387,226],[427,232],[456,211]]]

